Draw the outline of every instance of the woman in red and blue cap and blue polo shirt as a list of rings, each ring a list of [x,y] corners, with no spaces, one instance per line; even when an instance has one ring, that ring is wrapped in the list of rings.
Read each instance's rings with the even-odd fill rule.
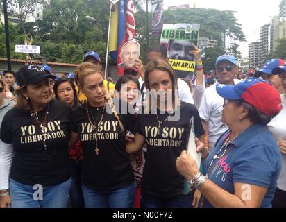
[[[258,78],[217,85],[217,92],[224,98],[222,121],[229,130],[203,162],[204,175],[185,151],[177,169],[201,191],[200,207],[271,207],[281,155],[266,125],[282,108],[280,95]]]

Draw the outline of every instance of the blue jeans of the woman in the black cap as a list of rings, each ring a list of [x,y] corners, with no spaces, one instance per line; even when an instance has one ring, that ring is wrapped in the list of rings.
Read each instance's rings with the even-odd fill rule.
[[[71,179],[59,185],[23,185],[10,178],[12,208],[66,208]]]

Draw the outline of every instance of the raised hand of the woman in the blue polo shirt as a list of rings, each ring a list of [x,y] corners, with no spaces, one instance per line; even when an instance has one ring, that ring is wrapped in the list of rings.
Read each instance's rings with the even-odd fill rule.
[[[199,169],[196,166],[196,160],[190,155],[187,155],[187,151],[182,151],[180,157],[176,160],[177,170],[188,180],[194,178],[196,173],[199,173]]]

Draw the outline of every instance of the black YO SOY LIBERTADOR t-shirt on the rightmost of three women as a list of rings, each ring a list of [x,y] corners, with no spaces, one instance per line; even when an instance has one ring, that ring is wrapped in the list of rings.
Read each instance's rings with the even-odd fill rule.
[[[177,198],[183,195],[184,178],[176,169],[176,158],[186,149],[188,128],[192,117],[194,117],[196,137],[200,137],[205,132],[198,110],[190,103],[182,101],[180,109],[171,114],[171,117],[180,114],[177,116],[178,121],[164,121],[169,114],[160,114],[158,110],[157,112],[158,119],[162,122],[160,130],[158,130],[156,114],[138,115],[137,133],[145,137],[147,144],[142,194],[166,199]]]

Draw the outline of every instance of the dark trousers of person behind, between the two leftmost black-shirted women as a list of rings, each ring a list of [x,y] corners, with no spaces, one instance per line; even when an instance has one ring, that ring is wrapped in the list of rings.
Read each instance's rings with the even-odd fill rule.
[[[81,189],[81,162],[72,161],[72,187],[69,191],[72,208],[85,207],[85,200],[83,200],[83,190]]]

